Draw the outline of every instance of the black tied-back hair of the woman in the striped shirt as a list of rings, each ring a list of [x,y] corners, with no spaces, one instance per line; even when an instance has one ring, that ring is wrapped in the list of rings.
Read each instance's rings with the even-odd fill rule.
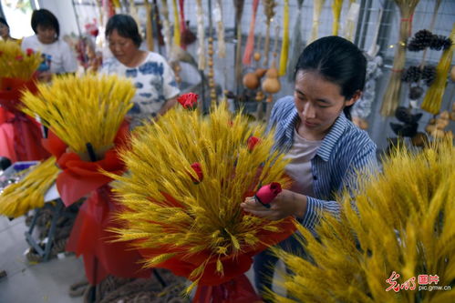
[[[365,86],[367,59],[360,49],[345,38],[330,35],[307,45],[297,60],[297,72],[316,71],[326,80],[341,87],[341,95],[348,100]],[[343,111],[351,119],[351,106]]]

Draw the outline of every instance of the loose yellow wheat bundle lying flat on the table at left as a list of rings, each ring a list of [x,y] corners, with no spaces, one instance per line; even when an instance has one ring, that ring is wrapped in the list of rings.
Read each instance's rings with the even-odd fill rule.
[[[0,215],[20,217],[30,209],[44,206],[47,189],[56,181],[59,172],[56,158],[49,157],[29,169],[23,172],[27,173],[26,177],[0,193]]]

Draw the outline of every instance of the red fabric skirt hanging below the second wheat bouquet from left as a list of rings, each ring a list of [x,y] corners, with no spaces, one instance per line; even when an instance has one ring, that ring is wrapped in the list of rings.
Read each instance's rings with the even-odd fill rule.
[[[83,255],[88,281],[98,284],[108,275],[121,278],[150,278],[150,269],[143,269],[141,256],[129,242],[114,242],[108,229],[119,227],[112,214],[119,204],[112,199],[111,188],[98,187],[80,207],[67,242],[67,250]]]

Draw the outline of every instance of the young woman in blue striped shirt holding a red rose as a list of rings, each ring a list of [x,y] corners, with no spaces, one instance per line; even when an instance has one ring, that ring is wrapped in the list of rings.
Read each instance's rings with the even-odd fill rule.
[[[325,212],[339,213],[336,194],[355,186],[358,172],[377,166],[375,143],[349,114],[362,94],[366,66],[357,46],[339,36],[305,47],[295,66],[294,96],[276,102],[268,125],[275,148],[291,158],[286,173],[295,182],[270,208],[247,197],[245,211],[273,220],[295,216],[313,233]],[[293,242],[291,237],[280,245],[292,248]],[[272,286],[276,261],[268,250],[254,259],[255,284],[262,295]]]

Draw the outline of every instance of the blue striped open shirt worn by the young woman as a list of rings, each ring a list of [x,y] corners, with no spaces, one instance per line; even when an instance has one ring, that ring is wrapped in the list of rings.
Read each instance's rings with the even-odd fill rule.
[[[267,131],[274,129],[275,148],[287,153],[294,143],[294,129],[299,120],[294,97],[284,96],[272,109]],[[356,187],[357,172],[377,167],[376,144],[367,132],[359,129],[345,114],[334,125],[311,160],[315,197],[307,197],[302,225],[314,231],[324,211],[337,216],[340,204],[334,200],[344,188]]]

